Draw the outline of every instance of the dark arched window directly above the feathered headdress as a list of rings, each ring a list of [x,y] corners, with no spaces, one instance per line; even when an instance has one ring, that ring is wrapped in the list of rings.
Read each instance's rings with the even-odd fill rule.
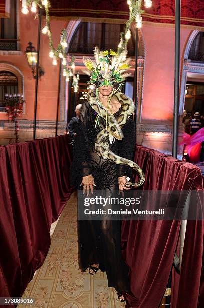
[[[125,25],[123,24],[81,22],[72,37],[68,53],[93,54],[95,46],[103,50],[117,50],[120,42],[120,33],[124,30]],[[129,40],[127,49],[129,55],[134,56],[135,40],[133,36]]]

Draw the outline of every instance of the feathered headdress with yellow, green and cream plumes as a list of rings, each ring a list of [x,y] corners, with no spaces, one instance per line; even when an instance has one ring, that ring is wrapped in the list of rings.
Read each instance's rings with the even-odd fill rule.
[[[95,61],[88,57],[83,58],[84,65],[89,70],[86,73],[91,76],[89,83],[96,84],[97,87],[122,83],[130,75],[126,70],[130,68],[128,63],[131,58],[126,55],[127,51],[118,54],[113,50],[99,51],[99,48],[95,47]]]

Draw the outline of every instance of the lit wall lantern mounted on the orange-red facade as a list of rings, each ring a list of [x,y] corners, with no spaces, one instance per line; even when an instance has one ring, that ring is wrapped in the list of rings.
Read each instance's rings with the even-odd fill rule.
[[[37,65],[37,51],[36,48],[33,46],[31,42],[28,43],[28,46],[26,47],[26,56],[28,60],[28,64],[32,69],[32,75],[33,78],[41,78],[44,75],[44,71],[39,66],[38,68],[38,74],[36,73],[36,65]]]

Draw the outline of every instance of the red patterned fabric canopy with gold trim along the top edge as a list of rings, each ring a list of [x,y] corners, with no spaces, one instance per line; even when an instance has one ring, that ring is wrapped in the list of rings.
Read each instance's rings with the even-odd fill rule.
[[[173,24],[175,1],[152,0],[152,2],[152,8],[145,9],[143,20]],[[125,23],[129,16],[129,8],[125,0],[53,0],[51,3],[51,15],[55,19]],[[181,0],[181,23],[204,27],[204,1]]]

